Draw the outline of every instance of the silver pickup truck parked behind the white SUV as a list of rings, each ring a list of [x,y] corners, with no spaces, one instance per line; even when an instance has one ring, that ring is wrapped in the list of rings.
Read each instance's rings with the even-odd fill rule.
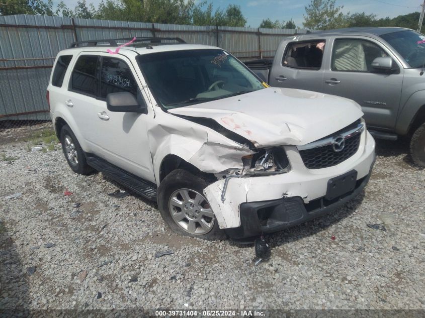
[[[357,101],[375,138],[410,138],[425,167],[425,36],[404,28],[348,28],[285,38],[274,60],[246,62],[275,87]]]

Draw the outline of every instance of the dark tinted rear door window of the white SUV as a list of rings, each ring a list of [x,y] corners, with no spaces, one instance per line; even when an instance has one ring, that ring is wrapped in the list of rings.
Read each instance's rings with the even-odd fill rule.
[[[71,90],[83,94],[97,95],[97,64],[98,56],[96,55],[80,56],[72,70]]]

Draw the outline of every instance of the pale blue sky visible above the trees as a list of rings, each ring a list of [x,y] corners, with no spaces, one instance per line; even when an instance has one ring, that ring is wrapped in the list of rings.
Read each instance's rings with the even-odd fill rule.
[[[86,0],[95,7],[101,0]],[[197,2],[201,0],[196,0]],[[59,2],[59,1],[55,1]],[[65,0],[68,7],[75,7],[77,0]],[[242,14],[246,17],[246,26],[259,27],[261,21],[270,18],[273,21],[288,21],[292,18],[297,27],[302,27],[305,7],[310,0],[207,0],[212,3],[214,9],[224,9],[230,4],[239,5]],[[344,13],[366,12],[376,14],[378,18],[394,18],[399,15],[420,11],[422,0],[336,0],[337,6],[344,6]],[[149,21],[146,21],[149,22]]]

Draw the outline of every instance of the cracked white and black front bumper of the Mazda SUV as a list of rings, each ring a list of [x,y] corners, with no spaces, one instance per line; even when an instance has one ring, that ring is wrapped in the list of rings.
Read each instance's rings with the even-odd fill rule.
[[[362,191],[375,162],[375,141],[367,131],[356,154],[323,169],[307,169],[295,146],[285,149],[292,166],[288,173],[232,178],[224,202],[220,199],[224,180],[204,189],[220,229],[231,238],[279,231],[328,213]],[[329,179],[352,170],[357,171],[355,189],[335,201],[325,200]]]

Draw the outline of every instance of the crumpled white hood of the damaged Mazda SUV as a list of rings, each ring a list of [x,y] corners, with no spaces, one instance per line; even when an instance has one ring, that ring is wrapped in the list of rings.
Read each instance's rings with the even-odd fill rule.
[[[363,116],[360,105],[351,99],[276,87],[168,112],[212,119],[256,147],[305,145]]]

